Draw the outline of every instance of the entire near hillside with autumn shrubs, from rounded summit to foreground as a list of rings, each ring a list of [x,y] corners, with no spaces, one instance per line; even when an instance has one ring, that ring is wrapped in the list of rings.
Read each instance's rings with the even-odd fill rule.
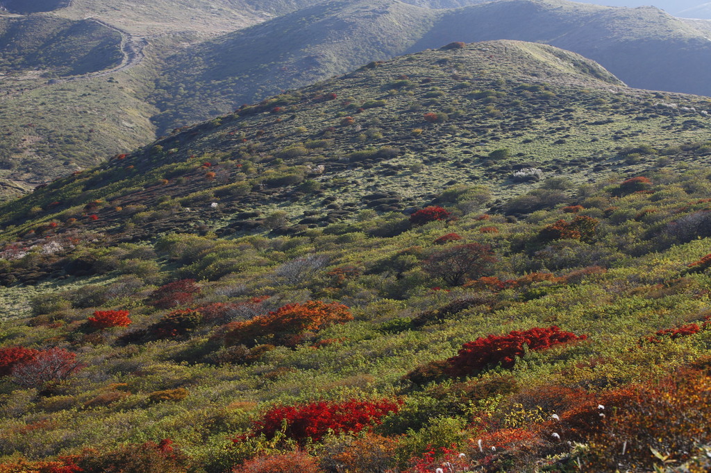
[[[0,471],[704,471],[709,107],[455,44],[1,207]]]

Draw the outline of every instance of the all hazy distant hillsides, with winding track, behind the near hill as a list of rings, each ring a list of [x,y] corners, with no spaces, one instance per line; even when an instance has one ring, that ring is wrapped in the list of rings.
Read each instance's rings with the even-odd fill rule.
[[[127,8],[77,0],[52,14],[77,21],[31,16],[1,23],[3,64],[14,72],[0,77],[5,93],[0,177],[22,185],[67,175],[145,144],[156,137],[156,129],[157,136],[168,134],[373,60],[451,41],[552,43],[597,60],[628,85],[711,94],[707,33],[651,8],[562,0],[507,0],[455,10],[394,0],[225,0],[191,6],[156,0]],[[125,31],[83,19],[88,16]],[[214,38],[257,22],[262,23]],[[50,36],[55,39],[48,43]],[[48,84],[43,77],[116,64],[119,40],[127,67],[116,74],[99,72],[61,84]],[[38,121],[46,126],[28,133]]]

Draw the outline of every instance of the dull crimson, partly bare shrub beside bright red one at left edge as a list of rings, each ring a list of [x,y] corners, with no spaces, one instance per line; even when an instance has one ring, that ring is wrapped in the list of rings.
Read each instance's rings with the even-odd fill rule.
[[[62,348],[41,350],[33,359],[15,364],[13,381],[24,388],[38,388],[47,381],[62,381],[82,369],[77,355]]]

